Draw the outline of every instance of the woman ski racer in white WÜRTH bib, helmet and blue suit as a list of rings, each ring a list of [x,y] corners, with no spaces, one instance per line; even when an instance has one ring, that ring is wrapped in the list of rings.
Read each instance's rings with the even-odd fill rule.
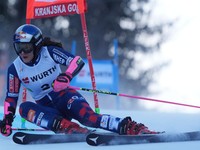
[[[31,24],[20,26],[13,38],[18,57],[7,71],[7,92],[4,102],[4,117],[0,131],[4,136],[12,133],[20,86],[31,94],[34,102],[20,104],[22,118],[55,133],[88,133],[82,125],[105,129],[118,134],[137,135],[156,132],[131,120],[108,114],[95,113],[85,98],[74,89],[70,81],[76,76],[84,62],[62,48],[61,43],[43,37],[40,29]],[[67,66],[64,73],[60,65]]]

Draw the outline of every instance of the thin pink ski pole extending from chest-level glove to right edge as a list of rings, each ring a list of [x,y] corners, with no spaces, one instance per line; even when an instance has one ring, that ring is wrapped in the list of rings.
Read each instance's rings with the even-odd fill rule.
[[[94,89],[87,89],[87,88],[80,88],[80,87],[73,87],[73,86],[70,86],[69,88],[72,88],[72,89],[75,89],[75,90],[86,91],[86,92],[96,92],[96,93],[107,94],[107,95],[115,95],[115,96],[122,96],[122,97],[140,99],[140,100],[145,100],[145,101],[153,101],[153,102],[167,103],[167,104],[172,104],[172,105],[180,105],[180,106],[186,106],[186,107],[200,108],[200,106],[195,106],[195,105],[189,105],[189,104],[153,99],[153,98],[148,98],[148,97],[114,93],[114,92],[110,92],[110,91],[94,90]]]

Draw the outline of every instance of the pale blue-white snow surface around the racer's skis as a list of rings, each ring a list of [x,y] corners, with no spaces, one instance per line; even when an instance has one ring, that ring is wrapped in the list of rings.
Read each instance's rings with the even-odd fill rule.
[[[3,112],[0,109],[0,112]],[[164,113],[157,111],[111,111],[111,110],[101,110],[101,113],[108,113],[114,116],[125,117],[131,116],[137,122],[142,122],[150,129],[157,131],[166,131],[168,133],[172,132],[185,132],[185,131],[196,131],[200,130],[200,114],[186,114],[186,113]],[[2,118],[2,113],[0,113],[0,118]],[[20,117],[17,116],[13,127],[20,127]],[[27,128],[37,128],[36,126],[26,123]],[[47,131],[42,131],[47,132]],[[36,133],[36,132],[34,132]],[[18,145],[12,141],[12,136],[3,137],[0,135],[0,149],[1,150],[63,150],[63,149],[76,149],[76,150],[121,150],[121,149],[134,149],[134,150],[196,150],[200,147],[200,141],[194,142],[174,142],[174,143],[159,143],[159,144],[132,144],[132,145],[119,145],[119,146],[99,146],[93,147],[87,145],[85,142],[80,143],[65,143],[65,144],[40,144],[40,145]]]

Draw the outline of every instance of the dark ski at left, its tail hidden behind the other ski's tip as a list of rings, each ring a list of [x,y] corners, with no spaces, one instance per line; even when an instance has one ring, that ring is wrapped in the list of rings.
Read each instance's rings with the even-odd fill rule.
[[[32,134],[16,132],[13,141],[17,144],[49,144],[85,142],[86,134]]]

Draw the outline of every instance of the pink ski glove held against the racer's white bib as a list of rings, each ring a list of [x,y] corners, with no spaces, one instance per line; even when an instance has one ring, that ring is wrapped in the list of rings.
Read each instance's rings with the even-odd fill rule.
[[[55,92],[62,91],[68,88],[72,75],[69,73],[61,73],[53,82],[53,89]]]

